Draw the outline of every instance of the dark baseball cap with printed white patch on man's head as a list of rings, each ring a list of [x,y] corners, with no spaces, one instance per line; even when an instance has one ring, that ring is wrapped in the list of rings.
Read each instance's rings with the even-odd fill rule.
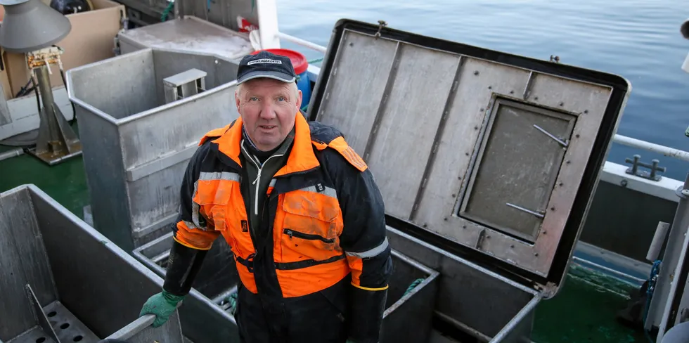
[[[289,57],[276,55],[269,51],[259,51],[255,55],[244,56],[239,62],[237,83],[240,84],[258,77],[269,77],[282,82],[295,82],[297,74]]]

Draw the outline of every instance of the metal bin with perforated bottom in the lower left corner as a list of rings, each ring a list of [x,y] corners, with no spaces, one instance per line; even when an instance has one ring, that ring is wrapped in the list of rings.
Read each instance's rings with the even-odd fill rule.
[[[183,342],[139,318],[162,279],[35,186],[0,193],[0,235],[0,342]]]

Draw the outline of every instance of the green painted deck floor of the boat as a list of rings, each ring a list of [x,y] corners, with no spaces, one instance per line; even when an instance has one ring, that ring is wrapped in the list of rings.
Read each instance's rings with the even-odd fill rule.
[[[0,153],[10,149],[0,145]],[[25,183],[33,183],[84,218],[89,190],[81,157],[53,167],[30,155],[0,161],[0,193]],[[615,320],[615,313],[624,308],[626,295],[632,288],[612,277],[572,266],[560,293],[541,302],[536,309],[532,340],[536,343],[648,342],[643,332],[626,328]]]

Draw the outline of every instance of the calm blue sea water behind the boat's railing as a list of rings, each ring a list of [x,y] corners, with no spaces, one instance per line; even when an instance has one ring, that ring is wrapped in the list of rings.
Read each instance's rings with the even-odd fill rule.
[[[689,150],[689,41],[679,33],[688,0],[582,1],[277,0],[280,30],[328,45],[340,18],[377,22],[465,44],[621,75],[632,91],[617,133]],[[285,48],[295,45],[282,42]],[[307,58],[321,53],[297,48]],[[689,162],[614,144],[608,160],[657,158],[665,176],[684,180]]]

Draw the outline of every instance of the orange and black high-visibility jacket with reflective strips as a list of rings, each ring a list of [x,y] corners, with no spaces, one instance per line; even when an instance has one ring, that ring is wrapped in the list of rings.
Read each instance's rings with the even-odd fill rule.
[[[392,261],[385,206],[371,171],[342,134],[297,113],[288,160],[259,205],[265,209],[261,227],[250,228],[247,208],[253,206],[246,202],[252,180],[242,168],[242,125],[237,119],[202,138],[183,179],[174,239],[208,250],[222,235],[245,288],[276,301],[309,295],[345,277],[366,293],[386,290]],[[256,242],[257,231],[272,240]],[[382,307],[359,304],[361,313],[350,316],[376,323],[370,316],[382,316]]]

